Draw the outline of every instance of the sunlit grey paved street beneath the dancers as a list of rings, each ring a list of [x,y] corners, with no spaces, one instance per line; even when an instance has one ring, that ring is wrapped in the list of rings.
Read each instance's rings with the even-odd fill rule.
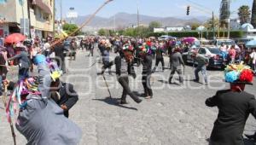
[[[74,84],[79,92],[79,102],[70,111],[70,119],[82,128],[81,145],[207,144],[218,109],[206,107],[205,100],[213,96],[216,90],[228,87],[228,84],[223,83],[222,72],[209,71],[212,83],[208,86],[190,81],[194,73],[189,66],[185,68],[185,82],[182,86],[166,84],[170,70],[157,72],[151,79],[154,90],[152,100],[143,99],[142,103],[137,104],[127,96],[129,104],[120,106],[117,102],[122,90],[115,73],[109,75],[108,70],[105,73],[113,97],[111,99],[103,77],[96,74],[102,67],[98,63],[98,53],[94,57],[86,55],[87,52],[79,51],[76,61],[67,60],[68,72],[62,78]],[[90,67],[91,65],[93,66]],[[112,67],[113,72],[114,70]],[[137,67],[137,78],[130,78],[131,88],[138,95],[143,93],[139,75],[141,70],[142,67]],[[177,75],[173,81],[178,82],[175,78]],[[247,92],[255,95],[255,86],[247,86]],[[0,141],[1,144],[9,145],[12,144],[12,137],[3,102],[0,107]],[[256,124],[250,116],[245,132],[253,134],[253,131],[256,131]],[[19,132],[16,131],[16,135],[18,145],[26,144],[26,139]],[[253,142],[246,141],[246,144],[251,145]]]

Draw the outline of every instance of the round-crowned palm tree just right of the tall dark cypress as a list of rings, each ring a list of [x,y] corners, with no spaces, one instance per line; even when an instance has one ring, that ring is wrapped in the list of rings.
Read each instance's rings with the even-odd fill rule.
[[[251,10],[250,10],[249,6],[247,6],[247,5],[242,5],[242,6],[238,9],[238,16],[239,16],[241,25],[244,24],[244,23],[249,22],[249,20],[250,20],[250,15],[251,15]]]

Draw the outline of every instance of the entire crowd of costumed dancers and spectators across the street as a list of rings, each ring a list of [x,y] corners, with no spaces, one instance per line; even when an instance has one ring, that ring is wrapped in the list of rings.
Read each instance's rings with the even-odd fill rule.
[[[45,42],[42,42],[37,37],[33,41],[6,44],[6,47],[1,48],[1,78],[3,82],[9,84],[9,90],[12,92],[7,103],[7,113],[10,120],[10,114],[14,111],[12,110],[13,103],[20,105],[16,128],[26,136],[28,144],[77,144],[79,142],[81,137],[79,127],[67,119],[68,110],[78,102],[79,96],[73,84],[61,81],[61,74],[66,73],[65,56],[67,55],[65,54],[70,56],[71,61],[76,61],[79,49],[82,52],[88,51],[90,52],[88,56],[93,56],[95,47],[98,47],[99,53],[102,55],[102,75],[106,69],[109,74],[112,74],[111,67],[115,66],[117,80],[123,88],[120,100],[122,105],[128,103],[126,102],[127,95],[131,96],[134,102],[143,102],[131,91],[129,86],[129,75],[133,78],[137,77],[134,67],[143,65],[142,85],[145,99],[153,99],[154,92],[151,88],[150,78],[153,73],[156,73],[160,62],[162,72],[166,71],[166,68],[172,70],[168,79],[169,84],[172,84],[173,75],[177,73],[179,85],[182,85],[183,68],[185,67],[183,53],[191,49],[193,49],[192,57],[197,62],[194,81],[199,82],[198,73],[201,72],[204,83],[208,84],[209,58],[199,54],[195,50],[194,44],[183,43],[182,39],[84,37],[79,44],[76,38],[72,38],[68,46],[67,49],[60,38],[48,37]],[[219,49],[223,54],[223,59],[228,61],[228,67],[225,69],[225,81],[230,83],[230,90],[220,90],[216,96],[212,96],[206,101],[207,106],[217,106],[220,110],[210,142],[212,144],[240,144],[248,114],[252,113],[253,116],[256,116],[255,98],[244,91],[246,84],[253,83],[253,71],[247,65],[255,71],[256,52],[255,49],[248,51],[242,45],[237,48],[236,45],[228,47],[223,44]],[[111,52],[119,55],[111,60]],[[169,59],[167,66],[165,55]],[[6,79],[7,66],[14,65],[19,66],[17,83]],[[38,76],[30,74],[33,67],[38,67]],[[226,111],[229,113],[224,113]],[[48,121],[41,125],[42,121],[38,120],[44,120],[44,116],[47,116]],[[238,121],[238,124],[234,125],[234,121]],[[229,126],[232,127],[229,128]],[[67,135],[65,132],[69,132],[69,134]],[[227,136],[227,132],[229,136]],[[247,137],[256,140],[256,134]]]

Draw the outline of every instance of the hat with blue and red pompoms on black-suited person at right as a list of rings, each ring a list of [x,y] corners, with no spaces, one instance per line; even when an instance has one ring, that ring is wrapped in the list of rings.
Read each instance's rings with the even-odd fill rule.
[[[241,62],[239,65],[231,64],[224,70],[225,82],[231,84],[253,85],[253,70]]]

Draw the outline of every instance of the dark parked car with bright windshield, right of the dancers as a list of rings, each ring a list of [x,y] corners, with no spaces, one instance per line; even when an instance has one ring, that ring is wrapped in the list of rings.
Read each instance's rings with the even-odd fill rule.
[[[208,68],[223,68],[224,60],[220,50],[215,46],[201,47],[200,49],[190,49],[188,53],[183,54],[183,61],[196,65],[192,58],[193,51],[197,51],[200,55],[205,55],[209,58]]]

